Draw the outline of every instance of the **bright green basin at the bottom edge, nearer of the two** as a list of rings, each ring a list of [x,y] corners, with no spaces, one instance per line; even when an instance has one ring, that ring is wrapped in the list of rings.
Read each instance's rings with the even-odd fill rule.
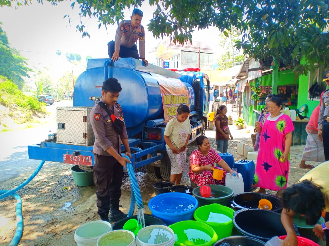
[[[175,233],[176,246],[212,246],[217,241],[214,229],[200,221],[185,220],[169,227]]]

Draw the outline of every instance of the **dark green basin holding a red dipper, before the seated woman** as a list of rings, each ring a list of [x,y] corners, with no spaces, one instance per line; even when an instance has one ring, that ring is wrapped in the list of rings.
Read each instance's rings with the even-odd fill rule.
[[[192,194],[199,202],[198,207],[213,204],[213,203],[218,203],[229,207],[229,203],[230,201],[232,201],[234,191],[230,187],[224,185],[208,185],[208,186],[210,186],[211,193],[212,196],[214,196],[214,198],[202,197],[200,193],[200,187],[202,186],[196,187],[192,191]]]

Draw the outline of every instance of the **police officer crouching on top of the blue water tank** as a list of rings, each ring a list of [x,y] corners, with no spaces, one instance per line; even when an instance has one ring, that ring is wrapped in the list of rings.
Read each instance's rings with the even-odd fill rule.
[[[130,20],[123,20],[119,23],[115,33],[115,41],[109,42],[108,54],[112,61],[116,61],[119,57],[132,57],[137,60],[141,59],[145,65],[145,31],[140,25],[143,12],[134,9]],[[137,50],[137,41],[139,40],[139,54]]]

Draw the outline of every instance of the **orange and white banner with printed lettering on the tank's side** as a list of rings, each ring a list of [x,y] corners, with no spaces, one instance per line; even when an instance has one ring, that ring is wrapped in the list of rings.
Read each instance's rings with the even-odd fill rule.
[[[165,122],[177,115],[179,105],[185,104],[190,107],[189,92],[179,79],[167,78],[159,74],[152,76],[156,77],[160,86]]]

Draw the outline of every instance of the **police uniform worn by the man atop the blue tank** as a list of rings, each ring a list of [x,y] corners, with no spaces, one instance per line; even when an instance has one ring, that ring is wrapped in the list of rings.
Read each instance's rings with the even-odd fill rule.
[[[113,56],[114,51],[119,51],[120,57],[132,57],[137,60],[145,59],[145,30],[142,25],[132,28],[130,20],[123,20],[119,23],[115,32],[115,41],[109,42],[108,54]],[[139,41],[139,54],[137,50]]]

